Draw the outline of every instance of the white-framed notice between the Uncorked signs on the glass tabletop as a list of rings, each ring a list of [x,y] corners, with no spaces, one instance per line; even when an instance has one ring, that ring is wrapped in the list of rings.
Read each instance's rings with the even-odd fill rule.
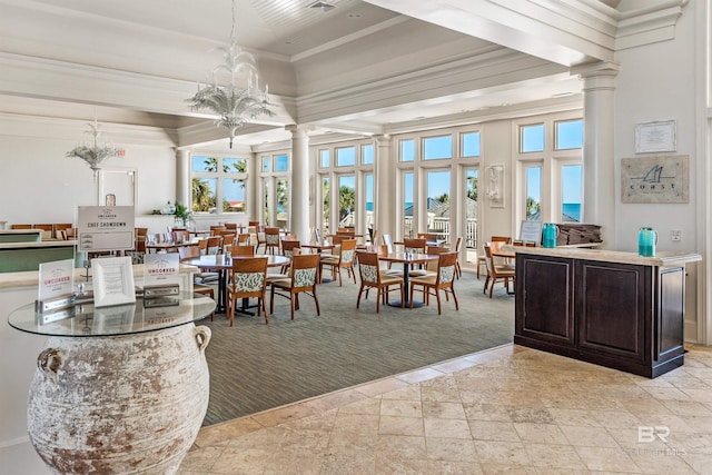
[[[91,268],[93,269],[95,307],[136,301],[134,267],[129,256],[91,259]]]

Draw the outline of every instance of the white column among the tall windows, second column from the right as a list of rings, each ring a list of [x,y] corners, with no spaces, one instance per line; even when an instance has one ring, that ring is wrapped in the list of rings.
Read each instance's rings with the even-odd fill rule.
[[[388,135],[376,136],[376,176],[374,177],[374,222],[378,236],[393,236],[396,230],[396,172],[393,164],[393,139]],[[400,207],[403,207],[400,205]],[[378,239],[380,241],[380,239]],[[378,244],[378,243],[376,243]]]

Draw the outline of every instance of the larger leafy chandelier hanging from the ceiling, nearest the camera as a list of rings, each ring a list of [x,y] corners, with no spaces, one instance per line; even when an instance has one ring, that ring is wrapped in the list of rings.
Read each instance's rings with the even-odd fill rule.
[[[258,116],[275,116],[269,110],[268,86],[259,89],[259,73],[253,55],[243,50],[235,41],[235,0],[233,0],[233,28],[230,43],[218,48],[222,52],[225,62],[212,70],[212,83],[201,87],[190,99],[191,110],[207,109],[219,116],[216,126],[225,127],[230,132],[230,148],[235,131]],[[227,75],[229,86],[220,86],[220,76]]]

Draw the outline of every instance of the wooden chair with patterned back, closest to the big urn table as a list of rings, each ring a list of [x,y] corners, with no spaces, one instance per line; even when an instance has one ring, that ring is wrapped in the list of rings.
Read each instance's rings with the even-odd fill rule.
[[[238,246],[239,247],[239,246]],[[257,316],[265,311],[265,324],[269,324],[267,314],[267,257],[233,259],[233,269],[226,287],[227,313],[230,326],[235,323],[235,306],[238,299],[257,298]],[[260,308],[261,307],[261,308]]]

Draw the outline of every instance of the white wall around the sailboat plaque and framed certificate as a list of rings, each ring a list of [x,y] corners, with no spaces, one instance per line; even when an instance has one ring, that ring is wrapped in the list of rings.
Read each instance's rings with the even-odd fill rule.
[[[695,176],[695,85],[694,85],[694,11],[688,6],[675,26],[675,38],[616,53],[621,65],[615,89],[615,177],[621,186],[621,159],[655,155],[690,156],[690,202],[623,204],[616,194],[616,241],[619,250],[637,249],[637,230],[651,226],[659,232],[657,249],[700,253],[695,197],[700,184]],[[635,154],[635,125],[675,120],[678,151],[670,154]],[[682,239],[673,243],[670,231],[679,229]],[[688,266],[685,339],[698,338],[696,313],[698,265]]]

